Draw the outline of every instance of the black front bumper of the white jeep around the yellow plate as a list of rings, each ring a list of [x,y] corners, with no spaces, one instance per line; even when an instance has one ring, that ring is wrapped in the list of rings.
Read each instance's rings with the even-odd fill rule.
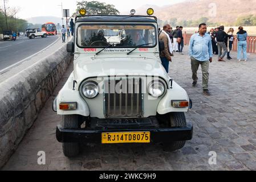
[[[151,143],[172,142],[179,140],[191,140],[193,135],[193,125],[191,122],[187,122],[186,127],[140,127],[137,129],[63,129],[60,125],[58,125],[56,127],[56,139],[58,142],[101,143],[101,133],[129,131],[149,131],[151,133]]]

